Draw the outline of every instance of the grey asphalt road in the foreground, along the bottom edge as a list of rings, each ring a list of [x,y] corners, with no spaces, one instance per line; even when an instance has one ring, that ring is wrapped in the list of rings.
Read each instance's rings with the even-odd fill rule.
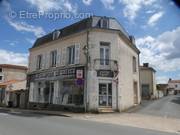
[[[177,135],[68,117],[0,113],[0,135]]]

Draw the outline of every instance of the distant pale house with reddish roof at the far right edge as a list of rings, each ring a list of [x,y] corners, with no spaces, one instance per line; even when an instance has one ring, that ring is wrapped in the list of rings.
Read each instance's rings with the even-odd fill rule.
[[[169,94],[178,94],[180,93],[180,80],[172,80],[171,78],[168,81],[168,93]]]

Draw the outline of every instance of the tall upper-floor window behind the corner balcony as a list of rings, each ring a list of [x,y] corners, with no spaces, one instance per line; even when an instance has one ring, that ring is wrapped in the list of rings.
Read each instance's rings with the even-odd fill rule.
[[[109,43],[100,43],[100,64],[109,65],[110,46]]]

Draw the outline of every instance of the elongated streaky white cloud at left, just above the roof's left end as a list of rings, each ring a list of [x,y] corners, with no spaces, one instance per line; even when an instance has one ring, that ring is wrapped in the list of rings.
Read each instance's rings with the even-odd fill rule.
[[[21,22],[14,21],[14,20],[11,20],[10,18],[6,18],[6,20],[9,23],[9,25],[11,25],[17,31],[31,32],[36,37],[40,37],[45,34],[45,31],[43,30],[42,27],[29,25],[22,21]]]

